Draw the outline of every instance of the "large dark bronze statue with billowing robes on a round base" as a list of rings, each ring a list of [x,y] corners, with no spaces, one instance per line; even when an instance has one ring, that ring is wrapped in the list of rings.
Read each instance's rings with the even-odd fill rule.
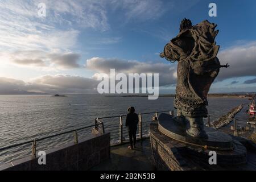
[[[208,20],[192,26],[191,20],[183,19],[179,34],[160,53],[171,63],[178,61],[174,98],[176,120],[189,122],[186,132],[192,137],[208,138],[203,122],[203,117],[208,115],[207,94],[220,68],[229,67],[228,64],[221,65],[217,58],[216,26]]]

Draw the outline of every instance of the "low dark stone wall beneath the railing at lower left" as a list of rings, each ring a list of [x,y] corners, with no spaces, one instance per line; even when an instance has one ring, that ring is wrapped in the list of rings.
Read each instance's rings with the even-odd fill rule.
[[[88,170],[110,158],[110,133],[91,135],[46,151],[46,165],[31,156],[3,164],[0,170]]]

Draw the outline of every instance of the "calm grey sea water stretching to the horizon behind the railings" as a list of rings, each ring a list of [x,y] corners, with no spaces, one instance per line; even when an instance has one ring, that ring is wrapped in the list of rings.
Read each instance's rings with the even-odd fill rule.
[[[241,98],[208,98],[209,114],[217,119],[239,104],[246,104],[237,117],[247,119],[245,110],[250,101]],[[94,118],[126,114],[128,106],[134,106],[137,113],[160,110],[174,110],[173,98],[159,97],[105,97],[99,95],[51,96],[3,96],[0,95],[0,148],[27,140],[46,137],[83,126],[92,125]],[[143,115],[143,130],[147,134],[152,114]],[[119,118],[102,120],[107,131],[112,131],[113,142],[118,139]],[[245,122],[239,124],[244,125]],[[79,131],[79,137],[91,129]],[[124,129],[126,133],[126,129]],[[125,135],[127,137],[127,135]],[[47,150],[73,139],[72,133],[42,140],[37,150]],[[0,151],[0,162],[6,163],[31,154],[31,144]]]

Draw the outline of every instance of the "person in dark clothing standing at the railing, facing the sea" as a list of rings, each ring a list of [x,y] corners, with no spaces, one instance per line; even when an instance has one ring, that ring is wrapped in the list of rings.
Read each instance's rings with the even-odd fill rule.
[[[126,115],[125,126],[128,127],[130,146],[129,148],[133,150],[133,147],[136,148],[136,132],[137,125],[139,122],[138,114],[135,113],[134,107],[128,108],[128,114]]]

